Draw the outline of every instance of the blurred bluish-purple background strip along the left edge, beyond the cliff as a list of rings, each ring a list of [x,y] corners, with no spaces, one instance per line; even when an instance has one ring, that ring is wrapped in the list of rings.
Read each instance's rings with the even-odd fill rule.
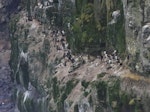
[[[16,4],[14,4],[16,2]],[[0,0],[0,112],[14,112],[13,99],[15,85],[10,77],[10,42],[8,22],[17,11],[18,0]]]

